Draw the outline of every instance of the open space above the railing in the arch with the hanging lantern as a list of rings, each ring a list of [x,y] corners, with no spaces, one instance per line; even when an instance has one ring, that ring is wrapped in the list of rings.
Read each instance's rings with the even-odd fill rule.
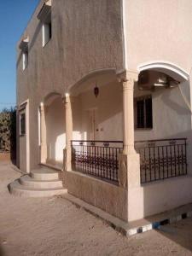
[[[90,73],[69,91],[73,139],[122,140],[122,89],[114,70]]]

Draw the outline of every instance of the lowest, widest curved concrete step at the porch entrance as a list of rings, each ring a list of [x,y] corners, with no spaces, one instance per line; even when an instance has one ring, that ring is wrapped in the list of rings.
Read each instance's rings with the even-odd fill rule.
[[[21,185],[18,180],[9,184],[9,192],[12,195],[22,197],[49,197],[53,195],[62,195],[67,193],[64,188],[51,188],[51,189],[32,189],[27,186]]]

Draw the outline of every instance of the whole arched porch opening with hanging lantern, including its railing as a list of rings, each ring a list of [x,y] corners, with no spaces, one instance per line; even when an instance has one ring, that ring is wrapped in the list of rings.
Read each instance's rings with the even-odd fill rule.
[[[117,183],[123,126],[122,88],[116,73],[90,73],[68,93],[73,115],[73,170]]]

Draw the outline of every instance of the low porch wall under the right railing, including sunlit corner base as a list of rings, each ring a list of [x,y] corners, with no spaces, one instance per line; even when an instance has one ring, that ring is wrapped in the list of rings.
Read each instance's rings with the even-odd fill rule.
[[[191,177],[188,175],[147,183],[132,189],[128,201],[129,221],[148,218],[191,203],[191,182]]]

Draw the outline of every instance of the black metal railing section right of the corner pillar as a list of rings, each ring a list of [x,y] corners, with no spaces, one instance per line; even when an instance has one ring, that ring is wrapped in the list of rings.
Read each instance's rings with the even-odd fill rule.
[[[187,174],[187,139],[135,142],[140,154],[141,183]]]

